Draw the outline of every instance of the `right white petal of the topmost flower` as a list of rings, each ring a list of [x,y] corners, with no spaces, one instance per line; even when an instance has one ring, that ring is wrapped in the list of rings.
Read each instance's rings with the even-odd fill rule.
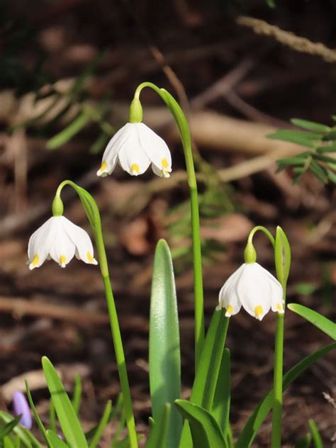
[[[155,165],[156,169],[152,167],[153,171],[158,176],[169,177],[169,173],[172,172],[172,156],[167,143],[145,123],[137,123],[137,126],[140,144]]]

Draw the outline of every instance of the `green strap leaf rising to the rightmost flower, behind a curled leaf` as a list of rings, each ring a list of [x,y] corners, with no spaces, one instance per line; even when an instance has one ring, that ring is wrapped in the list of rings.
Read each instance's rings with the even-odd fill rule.
[[[201,359],[196,371],[190,401],[211,410],[213,396],[219,378],[220,364],[223,357],[226,335],[230,318],[225,318],[225,310],[215,311],[206,334]],[[184,422],[180,448],[192,446],[189,425]]]

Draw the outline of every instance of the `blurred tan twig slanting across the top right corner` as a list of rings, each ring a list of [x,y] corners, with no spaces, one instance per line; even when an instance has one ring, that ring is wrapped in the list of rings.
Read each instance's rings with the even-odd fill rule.
[[[282,45],[290,47],[301,53],[308,53],[321,57],[325,62],[336,62],[336,51],[326,47],[323,43],[314,43],[307,38],[301,38],[291,31],[281,30],[278,26],[270,25],[269,23],[260,20],[259,18],[239,16],[237,23],[242,26],[247,26],[254,30],[254,33],[269,35],[277,40]]]

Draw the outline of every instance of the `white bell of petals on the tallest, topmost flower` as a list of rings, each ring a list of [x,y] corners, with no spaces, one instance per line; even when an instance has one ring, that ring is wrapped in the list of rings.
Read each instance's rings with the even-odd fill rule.
[[[97,176],[111,174],[117,162],[132,176],[144,173],[150,164],[157,176],[169,177],[172,172],[172,156],[166,142],[144,123],[126,123],[113,135]]]

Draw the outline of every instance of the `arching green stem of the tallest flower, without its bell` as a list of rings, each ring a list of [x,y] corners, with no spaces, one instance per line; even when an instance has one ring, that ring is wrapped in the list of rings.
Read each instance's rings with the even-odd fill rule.
[[[191,147],[191,136],[186,116],[174,96],[165,89],[159,89],[151,82],[142,82],[135,90],[134,98],[139,99],[140,92],[145,87],[153,89],[166,103],[169,111],[174,117],[184,149],[184,158],[186,161],[186,174],[189,185],[190,205],[191,205],[191,230],[193,238],[193,261],[194,261],[194,301],[195,301],[195,367],[197,370],[198,362],[204,343],[204,311],[203,311],[203,276],[202,276],[202,256],[201,256],[201,237],[199,223],[198,193],[196,174],[194,168],[194,158]]]

